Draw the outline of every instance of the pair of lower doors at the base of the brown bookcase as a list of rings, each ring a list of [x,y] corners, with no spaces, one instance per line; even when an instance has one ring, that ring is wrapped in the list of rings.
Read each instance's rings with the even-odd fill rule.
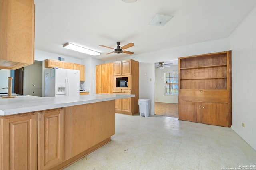
[[[228,127],[228,104],[180,101],[179,119]]]

